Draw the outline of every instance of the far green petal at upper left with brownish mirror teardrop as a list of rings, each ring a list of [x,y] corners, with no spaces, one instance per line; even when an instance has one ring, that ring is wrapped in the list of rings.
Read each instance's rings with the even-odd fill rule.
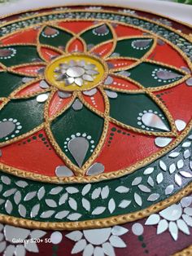
[[[63,46],[72,38],[72,34],[54,27],[46,27],[41,31],[39,42],[49,46]]]

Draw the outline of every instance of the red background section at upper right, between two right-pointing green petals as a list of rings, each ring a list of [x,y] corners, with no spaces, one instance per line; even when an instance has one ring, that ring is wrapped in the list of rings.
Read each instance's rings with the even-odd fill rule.
[[[169,46],[167,43],[160,45],[163,41],[159,41],[159,44],[155,46],[154,51],[148,57],[148,59],[173,65],[174,67],[181,68],[181,66],[187,66],[184,58],[179,55],[179,52]]]

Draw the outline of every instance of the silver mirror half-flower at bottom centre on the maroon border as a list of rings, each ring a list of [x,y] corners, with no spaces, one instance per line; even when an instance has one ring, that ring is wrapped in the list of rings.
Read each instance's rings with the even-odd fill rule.
[[[78,254],[83,251],[83,256],[115,256],[115,248],[124,248],[126,244],[119,237],[127,233],[129,230],[120,227],[106,227],[100,229],[89,229],[74,231],[66,235],[76,244],[72,248],[72,254]]]

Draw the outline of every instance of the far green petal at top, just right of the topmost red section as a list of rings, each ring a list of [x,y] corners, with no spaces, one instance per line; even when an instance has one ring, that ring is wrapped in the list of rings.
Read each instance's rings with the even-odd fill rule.
[[[103,24],[82,33],[81,38],[85,40],[89,48],[89,46],[96,46],[98,43],[112,39],[113,34],[111,33],[111,29],[107,26],[107,24]]]

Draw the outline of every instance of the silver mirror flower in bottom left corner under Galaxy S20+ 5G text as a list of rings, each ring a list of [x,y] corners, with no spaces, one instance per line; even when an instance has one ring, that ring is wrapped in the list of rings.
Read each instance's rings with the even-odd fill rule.
[[[25,228],[13,227],[0,224],[0,254],[7,256],[24,256],[26,251],[38,253],[37,243],[33,242],[45,236],[46,232],[41,230],[30,231]]]

